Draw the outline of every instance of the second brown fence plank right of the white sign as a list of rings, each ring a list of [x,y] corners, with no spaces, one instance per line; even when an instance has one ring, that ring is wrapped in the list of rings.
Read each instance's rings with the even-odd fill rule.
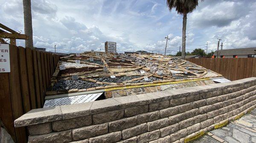
[[[31,110],[30,97],[29,97],[29,85],[26,71],[26,55],[25,48],[19,47],[19,68],[20,68],[20,86],[24,112],[29,112]]]

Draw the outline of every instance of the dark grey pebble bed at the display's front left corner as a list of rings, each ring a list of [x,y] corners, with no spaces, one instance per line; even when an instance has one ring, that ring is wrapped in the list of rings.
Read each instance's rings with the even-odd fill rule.
[[[59,80],[57,83],[54,84],[53,90],[70,90],[70,89],[85,89],[91,87],[99,87],[99,86],[106,86],[107,84],[96,84],[95,82],[91,81],[83,81],[83,80]]]

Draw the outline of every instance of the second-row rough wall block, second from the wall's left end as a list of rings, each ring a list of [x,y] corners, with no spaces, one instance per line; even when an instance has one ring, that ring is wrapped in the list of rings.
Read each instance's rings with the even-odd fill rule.
[[[108,123],[86,126],[72,130],[73,140],[82,140],[106,133],[108,133]]]

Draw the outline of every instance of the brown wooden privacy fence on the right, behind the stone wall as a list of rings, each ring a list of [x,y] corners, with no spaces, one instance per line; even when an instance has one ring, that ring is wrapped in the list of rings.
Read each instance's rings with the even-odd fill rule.
[[[256,76],[256,58],[200,58],[186,60],[220,73],[231,81]]]

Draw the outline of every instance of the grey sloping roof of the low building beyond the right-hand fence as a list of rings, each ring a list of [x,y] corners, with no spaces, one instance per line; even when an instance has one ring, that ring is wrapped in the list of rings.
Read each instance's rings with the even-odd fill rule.
[[[227,49],[219,50],[218,56],[225,55],[253,55],[256,54],[256,48],[239,48],[239,49]],[[217,50],[214,52],[213,56],[217,56]]]

